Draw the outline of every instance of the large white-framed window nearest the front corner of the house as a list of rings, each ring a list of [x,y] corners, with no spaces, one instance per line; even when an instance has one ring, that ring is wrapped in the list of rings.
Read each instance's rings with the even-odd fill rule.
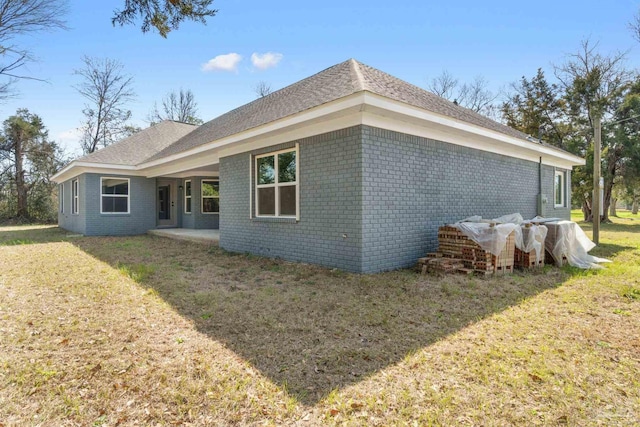
[[[257,216],[298,216],[297,158],[296,149],[256,156]]]

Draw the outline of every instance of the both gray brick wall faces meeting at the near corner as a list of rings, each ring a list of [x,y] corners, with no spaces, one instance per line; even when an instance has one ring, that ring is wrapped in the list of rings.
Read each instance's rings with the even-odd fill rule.
[[[536,162],[356,126],[297,141],[299,223],[250,219],[252,156],[295,142],[221,159],[223,248],[377,272],[410,266],[435,250],[445,223],[536,215]],[[543,167],[545,214],[568,218],[568,208],[553,208],[553,173]]]

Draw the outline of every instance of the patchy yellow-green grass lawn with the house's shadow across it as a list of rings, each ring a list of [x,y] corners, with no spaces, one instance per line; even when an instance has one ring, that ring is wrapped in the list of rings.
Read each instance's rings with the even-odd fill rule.
[[[485,279],[0,228],[0,426],[638,425],[640,217],[601,242]]]

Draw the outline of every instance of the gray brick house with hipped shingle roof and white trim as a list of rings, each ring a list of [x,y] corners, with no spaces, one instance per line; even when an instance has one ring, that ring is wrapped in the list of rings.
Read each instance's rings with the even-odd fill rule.
[[[199,127],[162,122],[74,160],[59,226],[213,228],[235,252],[406,267],[470,215],[569,218],[584,160],[355,60]]]

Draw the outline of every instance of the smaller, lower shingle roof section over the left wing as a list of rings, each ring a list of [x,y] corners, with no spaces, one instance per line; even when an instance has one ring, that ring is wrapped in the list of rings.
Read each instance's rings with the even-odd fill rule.
[[[194,125],[165,120],[76,161],[135,166],[145,162],[195,128]]]

